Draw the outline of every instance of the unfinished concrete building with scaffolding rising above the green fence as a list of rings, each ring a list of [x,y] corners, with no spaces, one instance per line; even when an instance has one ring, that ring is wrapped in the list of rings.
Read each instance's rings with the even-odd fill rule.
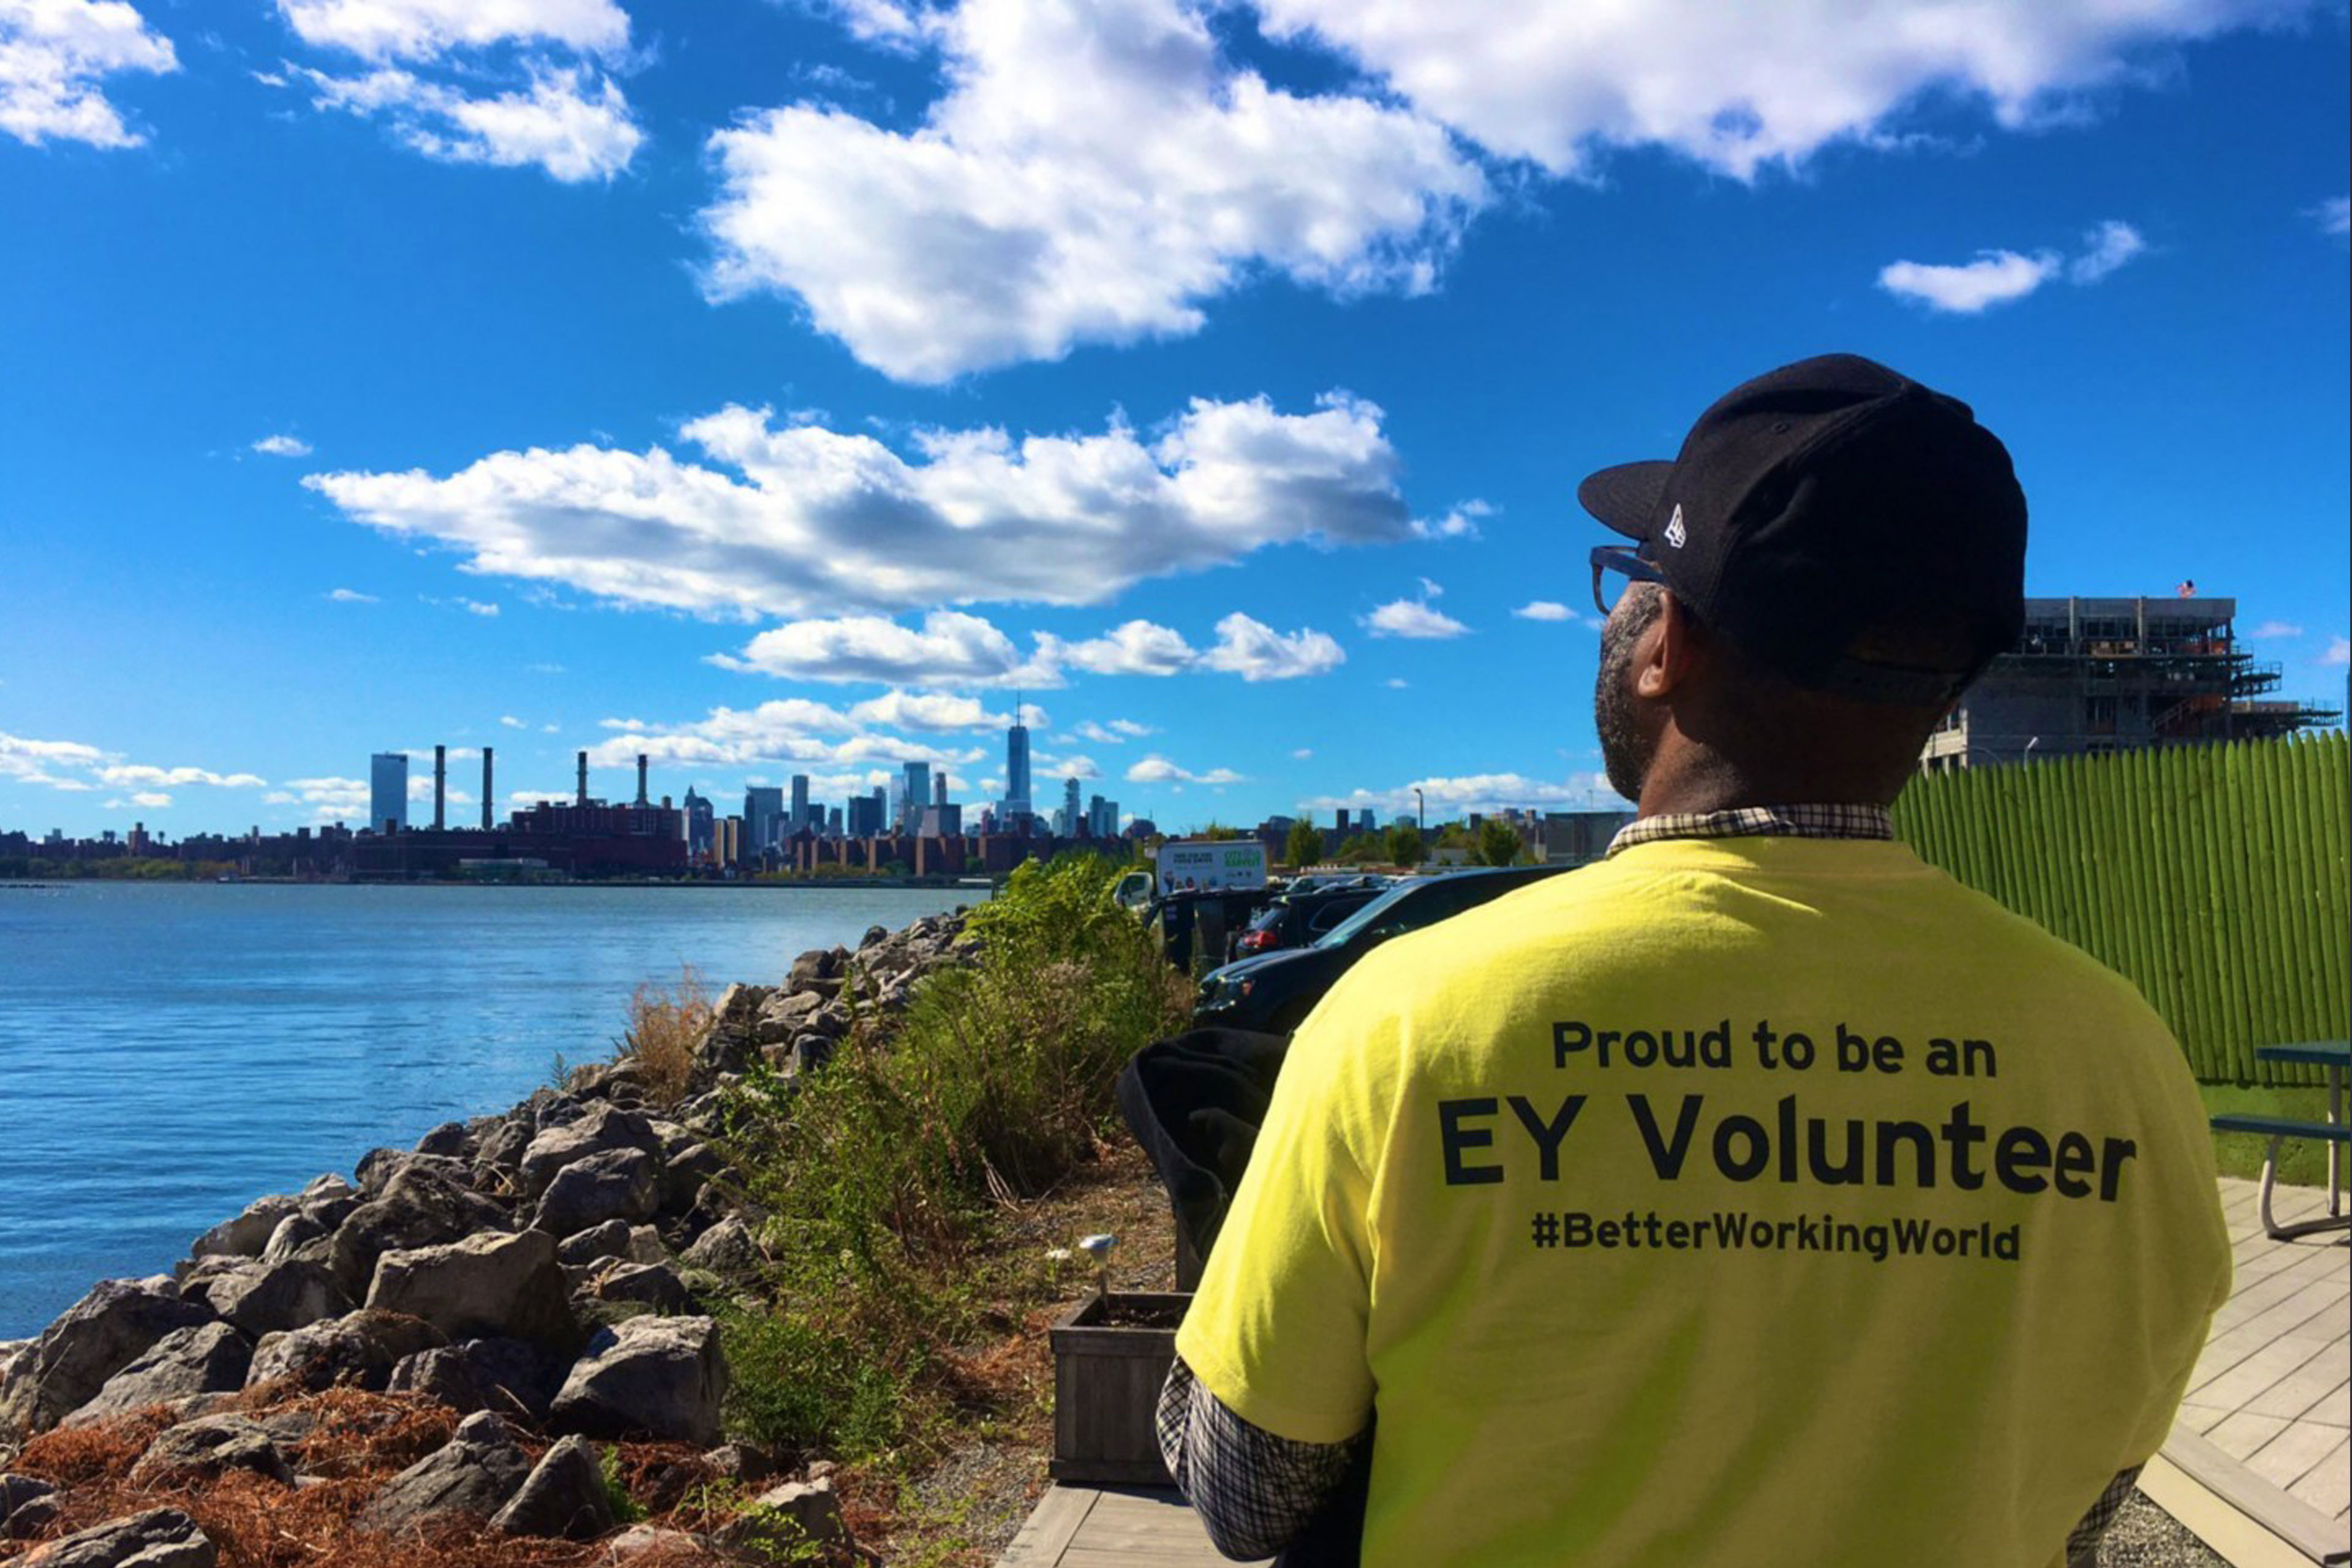
[[[2274,696],[2237,599],[2027,599],[2025,635],[1929,736],[1924,771],[2286,736],[2338,715]]]

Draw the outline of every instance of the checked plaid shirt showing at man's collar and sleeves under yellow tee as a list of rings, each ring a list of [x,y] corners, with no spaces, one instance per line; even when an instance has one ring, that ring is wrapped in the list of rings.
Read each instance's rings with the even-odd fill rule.
[[[1684,811],[1628,823],[1609,853],[1656,839],[1891,839],[1886,806],[1802,804]],[[1237,1559],[1272,1556],[1305,1530],[1369,1441],[1301,1443],[1242,1420],[1176,1356],[1155,1413],[1160,1455],[1192,1502],[1209,1540]],[[2067,1568],[2093,1568],[2098,1540],[2131,1497],[2140,1467],[2114,1476],[2065,1542]]]

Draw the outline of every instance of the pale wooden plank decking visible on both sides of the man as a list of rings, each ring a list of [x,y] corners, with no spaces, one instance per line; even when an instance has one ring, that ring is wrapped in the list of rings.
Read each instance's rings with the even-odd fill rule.
[[[2272,1241],[2256,1185],[2223,1178],[2237,1281],[2140,1488],[2237,1568],[2352,1554],[2352,1246]],[[2279,1187],[2277,1218],[2326,1208]],[[1054,1486],[1000,1568],[1214,1568],[1225,1559],[1174,1490]]]

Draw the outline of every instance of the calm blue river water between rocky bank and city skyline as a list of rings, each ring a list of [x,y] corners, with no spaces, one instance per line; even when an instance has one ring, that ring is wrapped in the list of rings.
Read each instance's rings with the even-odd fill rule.
[[[717,992],[983,889],[0,889],[0,1340],[263,1192],[600,1060],[640,980]]]

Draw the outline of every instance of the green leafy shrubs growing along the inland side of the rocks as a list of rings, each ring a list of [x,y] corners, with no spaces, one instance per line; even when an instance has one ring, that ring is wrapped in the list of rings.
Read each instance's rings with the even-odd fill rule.
[[[971,912],[971,964],[894,1027],[861,1023],[804,1081],[748,1079],[731,1145],[779,1265],[727,1319],[746,1436],[920,1455],[988,1406],[962,1349],[1049,1298],[1042,1258],[990,1248],[1004,1206],[1098,1152],[1120,1065],[1190,1009],[1115,879],[1094,856],[1021,865]]]

